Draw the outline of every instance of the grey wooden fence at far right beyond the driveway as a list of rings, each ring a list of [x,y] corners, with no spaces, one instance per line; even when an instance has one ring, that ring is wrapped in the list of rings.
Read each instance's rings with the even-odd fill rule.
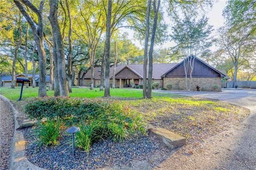
[[[234,81],[222,82],[222,88],[233,88]],[[256,88],[256,81],[236,81],[238,88]]]

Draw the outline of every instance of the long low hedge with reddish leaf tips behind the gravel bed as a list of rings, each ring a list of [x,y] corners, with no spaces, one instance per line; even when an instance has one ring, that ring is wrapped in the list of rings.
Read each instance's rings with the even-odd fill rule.
[[[45,97],[36,98],[25,106],[30,118],[61,118],[66,125],[77,125],[81,120],[90,122],[100,120],[105,123],[116,123],[131,131],[144,131],[142,115],[129,106],[112,100],[100,98]]]

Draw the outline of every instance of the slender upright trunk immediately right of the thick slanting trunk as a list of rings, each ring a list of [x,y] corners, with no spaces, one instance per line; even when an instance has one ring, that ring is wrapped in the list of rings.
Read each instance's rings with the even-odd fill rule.
[[[67,11],[68,11],[68,18],[69,18],[69,30],[68,30],[68,43],[69,43],[69,49],[68,49],[68,65],[67,65],[67,70],[68,70],[68,91],[71,93],[72,89],[72,50],[73,50],[73,45],[72,45],[72,16],[70,14],[70,9],[69,9],[69,4],[68,0],[66,0],[66,6],[67,6]]]

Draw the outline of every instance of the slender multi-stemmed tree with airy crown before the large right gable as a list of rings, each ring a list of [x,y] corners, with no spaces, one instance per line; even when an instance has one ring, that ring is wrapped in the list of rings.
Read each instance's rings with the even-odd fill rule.
[[[208,18],[204,16],[198,21],[195,18],[192,19],[191,16],[186,16],[182,21],[176,18],[175,23],[176,25],[172,27],[173,33],[171,37],[177,45],[173,50],[184,59],[186,89],[190,91],[193,82],[192,72],[195,59],[192,55],[200,57],[209,52],[209,48],[212,45],[209,36],[213,29],[211,25],[208,25]],[[188,73],[190,75],[189,86]]]

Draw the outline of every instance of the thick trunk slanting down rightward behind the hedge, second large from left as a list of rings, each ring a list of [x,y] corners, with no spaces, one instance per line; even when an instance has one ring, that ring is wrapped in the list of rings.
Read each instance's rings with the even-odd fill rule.
[[[52,25],[52,33],[53,33],[53,41],[54,41],[53,48],[55,48],[57,52],[58,80],[60,85],[60,95],[69,96],[68,84],[66,80],[66,70],[65,70],[64,45],[62,41],[62,35],[60,33],[57,14],[58,14],[58,1],[50,0],[50,15],[48,16],[48,18]]]

